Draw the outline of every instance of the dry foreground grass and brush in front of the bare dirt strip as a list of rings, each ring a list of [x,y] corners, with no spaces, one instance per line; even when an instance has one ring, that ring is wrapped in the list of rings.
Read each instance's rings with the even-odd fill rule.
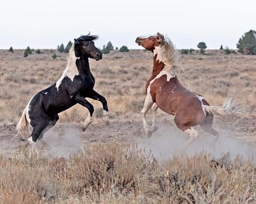
[[[70,158],[0,159],[2,203],[255,203],[251,160],[206,152],[159,163],[135,146],[85,146]]]

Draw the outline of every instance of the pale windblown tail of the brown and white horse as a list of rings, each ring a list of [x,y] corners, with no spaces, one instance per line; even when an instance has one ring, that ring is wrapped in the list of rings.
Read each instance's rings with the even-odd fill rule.
[[[217,115],[219,120],[226,124],[236,124],[244,115],[241,104],[234,103],[234,97],[229,98],[222,106],[205,106],[205,111]]]

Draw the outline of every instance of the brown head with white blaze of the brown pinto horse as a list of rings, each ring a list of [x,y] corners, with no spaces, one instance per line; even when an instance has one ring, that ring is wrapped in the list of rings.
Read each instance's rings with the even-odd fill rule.
[[[141,45],[147,50],[154,50],[155,47],[161,46],[164,36],[157,33],[155,36],[140,36],[135,40],[135,43]]]

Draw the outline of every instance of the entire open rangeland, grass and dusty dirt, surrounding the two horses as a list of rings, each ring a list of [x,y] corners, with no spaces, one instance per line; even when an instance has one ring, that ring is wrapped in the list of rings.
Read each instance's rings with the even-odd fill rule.
[[[196,127],[199,138],[187,155],[178,150],[188,135],[173,116],[158,109],[157,132],[149,139],[143,133],[140,111],[151,52],[112,50],[98,62],[90,60],[94,89],[108,101],[110,124],[102,123],[102,104],[88,99],[95,111],[83,132],[89,112],[73,106],[44,135],[53,148],[49,156],[43,147],[41,154],[31,151],[19,136],[10,141],[29,99],[61,77],[67,54],[53,60],[55,50],[26,58],[23,52],[0,50],[1,203],[256,202],[256,56],[222,50],[181,55],[178,77],[186,88],[211,105],[236,95],[247,110],[235,126],[214,118],[220,132],[215,149],[214,137]]]

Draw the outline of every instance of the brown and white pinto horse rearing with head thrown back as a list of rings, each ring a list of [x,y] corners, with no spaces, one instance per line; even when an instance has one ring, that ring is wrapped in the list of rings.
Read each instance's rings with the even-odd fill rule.
[[[234,97],[228,99],[221,107],[210,106],[203,96],[189,91],[177,78],[177,65],[179,52],[175,49],[172,41],[161,33],[155,36],[141,36],[135,41],[154,54],[153,72],[146,83],[147,96],[141,111],[143,128],[147,137],[157,130],[156,110],[174,115],[174,122],[178,128],[189,134],[190,138],[182,145],[185,150],[198,138],[198,132],[193,126],[201,128],[215,135],[215,141],[219,133],[212,128],[213,115],[221,117],[222,121],[236,122],[242,116],[242,107],[234,104]],[[146,114],[150,107],[153,113],[153,124],[146,122]]]

